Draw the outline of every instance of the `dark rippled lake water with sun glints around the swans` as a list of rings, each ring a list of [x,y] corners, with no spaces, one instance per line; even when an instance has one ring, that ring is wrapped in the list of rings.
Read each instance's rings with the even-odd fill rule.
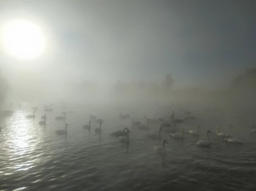
[[[90,134],[82,129],[82,125],[88,123],[89,109],[70,106],[74,112],[67,112],[69,126],[65,141],[65,136],[55,133],[65,127],[63,121],[55,120],[62,111],[59,105],[54,106],[54,111],[46,113],[45,129],[38,124],[43,111],[37,111],[34,120],[24,117],[32,114],[32,105],[15,108],[13,116],[1,119],[0,190],[255,189],[256,144],[254,137],[249,135],[250,122],[246,118],[236,119],[198,108],[193,113],[198,117],[196,120],[178,124],[178,133],[181,127],[184,128],[184,141],[171,139],[168,134],[162,133],[169,142],[165,165],[162,165],[162,156],[154,150],[154,146],[162,145],[162,141],[152,140],[146,136],[147,132],[131,128],[131,119],[118,120],[120,111],[109,106],[102,106],[98,112],[96,108],[94,111],[90,108],[94,112],[92,114],[104,119],[100,136],[94,133],[94,128],[99,127],[97,123],[92,123]],[[143,113],[152,115],[155,111],[149,108],[145,111],[130,110],[135,120],[144,123]],[[175,113],[179,118],[185,117],[182,109],[175,108]],[[227,127],[229,123],[234,127]],[[122,130],[125,125],[131,132],[128,151],[126,144],[110,136],[111,132]],[[196,130],[196,125],[200,125],[202,133],[199,138],[186,133]],[[229,132],[246,144],[228,144],[219,139],[215,135],[217,125],[220,125],[221,132]],[[159,124],[150,124],[150,127],[151,132],[157,133]],[[209,149],[198,148],[195,143],[206,138],[206,130],[213,132],[210,134],[213,144]]]

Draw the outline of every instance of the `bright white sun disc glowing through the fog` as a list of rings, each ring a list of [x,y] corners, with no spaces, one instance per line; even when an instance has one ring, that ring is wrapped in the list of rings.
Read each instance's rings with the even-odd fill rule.
[[[26,20],[6,23],[3,26],[2,41],[7,52],[20,59],[39,56],[45,45],[41,29]]]

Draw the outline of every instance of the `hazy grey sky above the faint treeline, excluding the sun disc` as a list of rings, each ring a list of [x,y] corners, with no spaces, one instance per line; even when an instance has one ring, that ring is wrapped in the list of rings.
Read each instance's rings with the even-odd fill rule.
[[[159,81],[225,87],[256,66],[254,0],[0,0],[0,24],[27,19],[46,38],[43,54],[0,62],[37,78]],[[15,73],[15,72],[16,73]]]

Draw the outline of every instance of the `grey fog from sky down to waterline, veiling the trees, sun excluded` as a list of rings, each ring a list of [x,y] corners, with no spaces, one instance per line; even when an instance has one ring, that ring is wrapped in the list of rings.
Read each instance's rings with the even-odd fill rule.
[[[255,64],[255,12],[242,2],[225,2],[232,9],[221,5],[3,1],[0,18],[40,26],[46,47],[29,60],[1,47],[8,85],[2,100],[230,110],[254,105],[255,73],[241,83],[235,78]]]

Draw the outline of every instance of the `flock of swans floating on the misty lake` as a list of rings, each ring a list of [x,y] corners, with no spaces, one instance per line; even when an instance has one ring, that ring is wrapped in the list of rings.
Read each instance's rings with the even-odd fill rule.
[[[32,109],[36,110],[38,109],[38,107],[33,107]],[[52,111],[52,108],[44,108],[44,111]],[[4,112],[5,115],[13,115],[14,111],[10,111],[7,110]],[[28,119],[34,119],[36,118],[35,116],[36,111],[33,112],[33,115],[27,115],[25,116]],[[71,112],[70,112],[71,113]],[[63,116],[57,116],[55,119],[56,120],[65,120],[66,119],[66,112],[62,112]],[[188,119],[193,119],[193,116],[189,117],[189,114],[191,114],[191,112],[187,112],[186,113],[188,116],[187,118],[185,118],[186,120]],[[146,118],[144,116],[144,119],[146,119],[147,125],[142,125],[142,123],[140,121],[135,121],[134,119],[132,119],[132,128],[137,127],[139,130],[147,130],[147,137],[149,137],[150,139],[154,139],[154,140],[162,140],[162,136],[161,136],[161,132],[164,131],[165,133],[169,134],[169,137],[171,139],[184,139],[184,128],[181,128],[181,133],[176,133],[176,128],[177,125],[176,123],[182,123],[183,120],[181,119],[175,119],[174,118],[175,114],[174,111],[172,111],[171,116],[170,116],[170,121],[164,121],[164,118],[158,118],[156,119],[150,119],[150,118]],[[44,114],[43,116],[41,116],[41,118],[43,119],[42,121],[39,121],[39,125],[46,125],[46,114]],[[130,115],[119,115],[120,119],[127,119],[130,118]],[[89,123],[85,124],[82,126],[82,129],[88,130],[89,133],[91,131],[91,123],[92,121],[95,121],[97,123],[99,123],[99,127],[94,129],[94,132],[97,134],[101,134],[102,129],[101,129],[101,125],[104,122],[104,120],[102,119],[96,119],[95,116],[90,115],[89,116]],[[172,119],[172,121],[171,121]],[[150,127],[149,127],[149,122],[152,123],[158,123],[161,122],[161,125],[159,127],[159,132],[158,133],[154,133],[154,132],[150,132]],[[173,124],[173,125],[172,125]],[[68,130],[67,130],[67,126],[68,123],[65,123],[65,129],[62,130],[57,130],[56,134],[58,135],[67,135],[68,134]],[[199,126],[197,125],[196,130],[189,130],[188,133],[191,134],[192,136],[200,136],[200,132],[199,132]],[[0,131],[2,131],[2,127],[0,127]],[[250,132],[251,133],[256,133],[256,127],[250,124]],[[197,146],[202,146],[202,147],[209,147],[211,142],[209,139],[209,133],[212,133],[211,131],[207,130],[206,131],[206,135],[207,135],[207,140],[200,140],[196,143]],[[123,130],[117,130],[115,132],[113,132],[111,134],[111,136],[115,136],[119,139],[119,141],[123,142],[123,143],[127,143],[127,149],[128,149],[128,145],[129,145],[129,134],[130,134],[130,130],[128,129],[128,127],[125,127]],[[222,137],[224,138],[225,141],[230,142],[230,143],[236,143],[236,144],[244,144],[243,141],[233,138],[230,134],[225,133],[225,132],[220,132],[220,126],[217,126],[217,133],[216,135],[218,137]],[[162,146],[154,146],[154,149],[157,153],[159,154],[164,154],[166,152],[165,150],[165,144],[168,144],[168,141],[166,139],[163,140]]]

